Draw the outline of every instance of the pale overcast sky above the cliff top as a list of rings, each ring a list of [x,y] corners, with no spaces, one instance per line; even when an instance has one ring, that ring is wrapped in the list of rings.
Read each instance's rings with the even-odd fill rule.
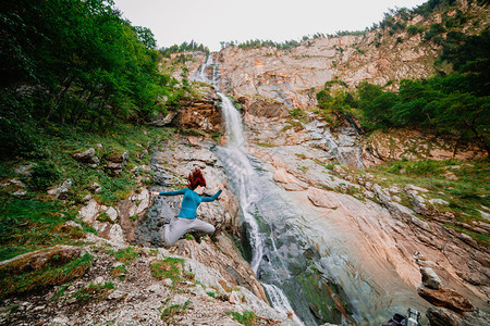
[[[315,33],[360,30],[389,9],[427,0],[114,0],[123,17],[151,29],[158,47],[194,39],[211,51],[220,41],[298,40]]]

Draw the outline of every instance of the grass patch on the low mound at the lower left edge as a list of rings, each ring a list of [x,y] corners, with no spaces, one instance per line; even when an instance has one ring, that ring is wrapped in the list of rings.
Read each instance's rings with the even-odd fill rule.
[[[41,268],[25,268],[22,273],[19,273],[17,264],[4,266],[0,268],[0,298],[64,284],[82,276],[91,262],[91,256],[86,253],[71,261],[52,256]]]

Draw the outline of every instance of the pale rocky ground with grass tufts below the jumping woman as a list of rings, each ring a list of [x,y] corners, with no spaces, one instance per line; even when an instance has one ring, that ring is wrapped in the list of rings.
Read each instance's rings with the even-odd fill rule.
[[[0,325],[241,325],[230,312],[252,311],[257,325],[291,324],[249,290],[194,259],[161,248],[117,247],[95,236],[87,240],[94,243],[85,247],[94,261],[83,277],[4,300]],[[201,243],[182,240],[179,250],[212,251],[215,246],[209,238]],[[118,254],[130,252],[127,248],[131,254]],[[151,265],[166,259],[183,263],[163,265],[163,272],[174,266],[176,274],[156,277]]]

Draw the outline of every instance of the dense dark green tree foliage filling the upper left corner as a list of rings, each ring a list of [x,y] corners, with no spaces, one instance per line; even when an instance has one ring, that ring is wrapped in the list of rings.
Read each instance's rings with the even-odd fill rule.
[[[160,99],[172,98],[179,82],[158,73],[152,33],[131,26],[112,4],[7,1],[0,20],[1,153],[39,154],[32,140],[46,121],[93,130],[166,110]]]

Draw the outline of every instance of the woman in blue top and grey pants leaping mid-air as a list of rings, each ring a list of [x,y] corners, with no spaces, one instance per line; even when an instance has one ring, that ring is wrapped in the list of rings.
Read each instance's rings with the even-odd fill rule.
[[[209,202],[218,199],[224,190],[224,184],[221,185],[220,190],[212,197],[203,197],[206,188],[206,179],[199,168],[194,170],[187,177],[187,187],[176,191],[167,192],[151,192],[154,196],[175,196],[184,195],[182,199],[181,211],[179,212],[176,221],[171,225],[164,226],[164,243],[166,247],[172,247],[175,242],[189,229],[194,231],[201,231],[207,235],[215,233],[215,227],[204,221],[196,218],[197,208],[201,202]]]

